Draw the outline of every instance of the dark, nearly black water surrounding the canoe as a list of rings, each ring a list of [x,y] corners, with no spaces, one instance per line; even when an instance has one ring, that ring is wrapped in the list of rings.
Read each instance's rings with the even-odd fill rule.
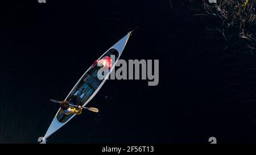
[[[127,32],[121,58],[159,59],[159,85],[106,81],[49,143],[255,143],[256,57],[210,39],[187,1],[1,2],[0,143],[37,143],[80,76]],[[216,35],[220,35],[217,34]],[[221,42],[222,43],[222,42]],[[238,45],[239,47],[239,45]]]

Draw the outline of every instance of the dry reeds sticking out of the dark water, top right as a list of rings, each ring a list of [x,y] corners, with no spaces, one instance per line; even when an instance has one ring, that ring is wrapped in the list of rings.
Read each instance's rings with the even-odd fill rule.
[[[256,0],[218,0],[217,3],[209,3],[203,0],[204,9],[208,14],[217,16],[221,19],[221,31],[228,40],[229,37],[236,36],[232,34],[226,36],[227,31],[237,31],[237,36],[241,39],[254,41],[256,37]]]

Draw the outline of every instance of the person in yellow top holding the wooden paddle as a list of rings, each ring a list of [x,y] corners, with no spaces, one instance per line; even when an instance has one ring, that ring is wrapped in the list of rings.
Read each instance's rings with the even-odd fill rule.
[[[60,104],[60,112],[64,113],[65,115],[71,115],[71,114],[76,114],[80,115],[82,113],[82,107],[71,107],[69,106],[69,102],[67,100],[61,101]]]

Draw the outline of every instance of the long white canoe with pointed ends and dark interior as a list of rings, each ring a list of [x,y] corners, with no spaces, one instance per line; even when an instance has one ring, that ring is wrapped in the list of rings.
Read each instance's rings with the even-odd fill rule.
[[[108,51],[106,51],[100,58],[98,58],[98,60],[100,60],[105,56],[109,56],[110,58],[113,58],[113,55],[115,56],[115,60],[112,60],[112,62],[114,63],[112,64],[108,74],[104,75],[105,78],[101,77],[99,79],[97,76],[97,71],[99,68],[97,66],[90,66],[90,68],[86,70],[86,72],[82,75],[82,77],[73,87],[73,89],[69,92],[65,100],[68,100],[69,102],[71,101],[73,104],[76,104],[76,106],[80,105],[82,107],[85,107],[86,104],[88,104],[90,100],[94,97],[94,95],[98,93],[102,85],[105,83],[106,79],[108,79],[109,74],[112,72],[115,64],[121,56],[130,35],[131,32],[129,32],[125,37],[115,43],[113,47],[109,48]],[[61,113],[59,109],[57,111],[57,114],[53,118],[52,123],[49,125],[46,135],[44,135],[42,141],[46,141],[46,139],[51,136],[52,133],[63,127],[63,125],[68,123],[69,120],[71,120],[74,116],[75,114],[65,115]]]

